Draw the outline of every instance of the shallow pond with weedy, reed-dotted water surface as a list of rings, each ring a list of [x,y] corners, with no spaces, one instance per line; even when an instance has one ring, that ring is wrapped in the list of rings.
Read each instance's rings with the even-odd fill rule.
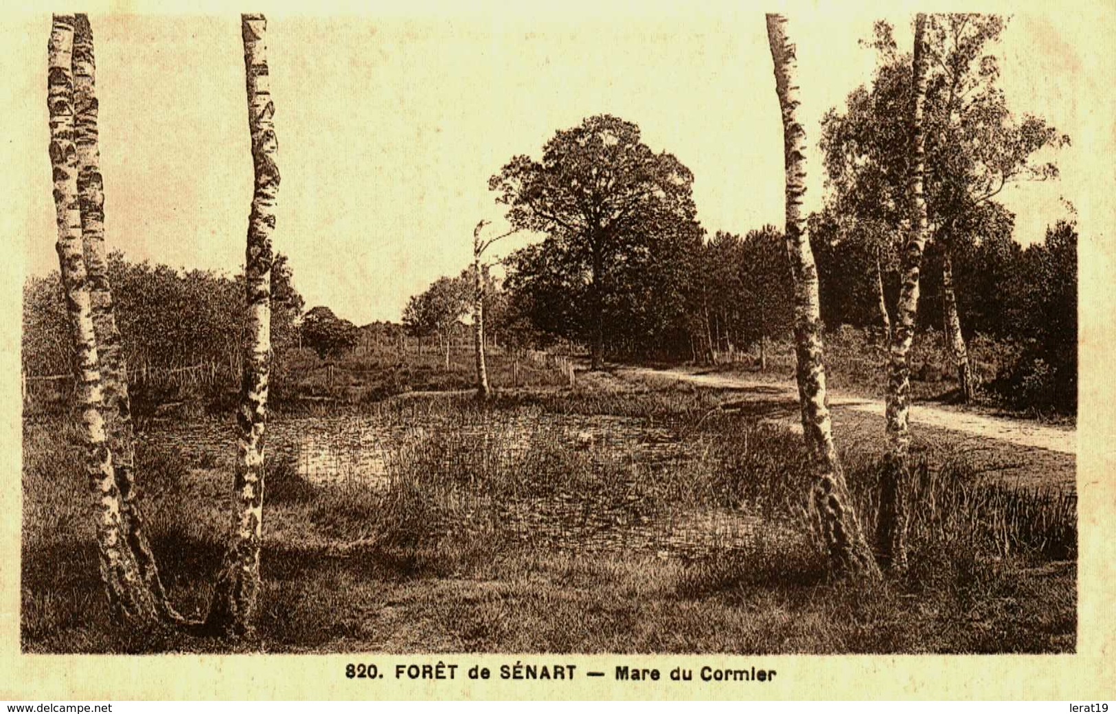
[[[231,468],[232,435],[221,425],[166,425],[146,438],[174,444],[187,458],[217,453],[222,466]],[[656,492],[651,483],[656,473],[702,458],[703,448],[700,440],[682,440],[645,419],[541,411],[463,418],[451,412],[412,420],[281,418],[268,425],[267,458],[271,464],[287,460],[300,478],[318,488],[356,486],[386,493],[393,478],[415,463],[440,474],[497,467],[501,473],[519,469],[523,478],[532,478],[538,477],[530,470],[532,453],[557,450],[565,468],[583,473],[554,488],[522,495],[502,492],[494,503],[477,494],[478,517],[466,527],[492,527],[496,521],[525,548],[691,559],[753,549],[772,535],[801,537],[756,513],[684,506],[673,503],[671,493]],[[607,482],[595,480],[602,473],[609,474]]]

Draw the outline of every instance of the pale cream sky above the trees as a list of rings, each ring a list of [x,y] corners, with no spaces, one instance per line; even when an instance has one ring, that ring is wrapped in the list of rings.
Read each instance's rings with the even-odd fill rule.
[[[814,150],[811,207],[821,198],[818,120],[870,78],[874,53],[857,40],[874,17],[790,17]],[[252,187],[239,17],[90,19],[109,244],[132,259],[234,273]],[[908,46],[911,16],[888,19]],[[1003,193],[1024,244],[1065,216],[1061,196],[1083,211],[1084,228],[1079,194],[1110,177],[1097,175],[1096,141],[1110,146],[1109,117],[1083,98],[1108,92],[1089,51],[1099,46],[1079,41],[1091,22],[1088,12],[1016,16],[1003,35],[1010,106],[1072,140],[1054,156],[1059,181]],[[25,274],[44,274],[57,267],[50,20],[2,23],[9,223],[23,240]],[[593,114],[635,122],[653,150],[693,171],[710,235],[782,225],[782,130],[760,12],[279,16],[268,35],[282,173],[275,246],[290,256],[307,307],[329,305],[356,323],[397,320],[410,295],[468,264],[478,220],[502,222],[488,178],[514,154],[538,158],[556,130]]]

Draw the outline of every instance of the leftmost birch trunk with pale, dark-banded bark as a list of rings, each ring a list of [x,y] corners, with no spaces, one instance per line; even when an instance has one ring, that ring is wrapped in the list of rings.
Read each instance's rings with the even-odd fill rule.
[[[66,294],[70,340],[77,354],[77,400],[81,410],[85,470],[97,517],[100,577],[116,620],[154,623],[157,615],[143,586],[135,558],[125,542],[121,494],[102,416],[97,337],[93,325],[85,259],[81,255],[81,209],[78,202],[77,147],[74,144],[74,25],[71,15],[55,15],[47,46],[47,108],[50,117],[50,164],[58,225],[58,266]]]

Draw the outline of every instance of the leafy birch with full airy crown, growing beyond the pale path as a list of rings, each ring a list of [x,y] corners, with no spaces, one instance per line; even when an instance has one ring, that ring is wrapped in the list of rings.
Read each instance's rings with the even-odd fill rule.
[[[975,380],[954,261],[989,238],[971,229],[975,217],[1002,210],[995,198],[1012,183],[1057,178],[1058,168],[1043,150],[1069,144],[1042,117],[1017,117],[1008,106],[993,51],[1006,27],[1007,19],[995,15],[934,15],[926,19],[923,39],[926,238],[942,256],[942,322],[964,401],[972,399]],[[876,23],[868,45],[879,54],[873,84],[854,89],[845,110],[826,114],[821,149],[840,212],[860,226],[883,221],[896,235],[907,235],[912,60],[898,51],[886,22]]]

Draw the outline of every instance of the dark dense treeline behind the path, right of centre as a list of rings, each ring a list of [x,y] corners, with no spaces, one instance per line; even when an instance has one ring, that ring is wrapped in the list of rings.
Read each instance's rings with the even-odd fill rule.
[[[825,218],[824,213],[810,218],[825,327],[839,350],[875,344],[882,354],[886,325],[881,291],[884,304],[894,305],[898,272],[877,273],[872,255],[843,239]],[[960,247],[952,256],[958,311],[974,361],[982,368],[978,377],[983,397],[1016,409],[1074,413],[1076,223],[1059,220],[1041,240],[1024,248],[1012,237],[1013,217],[1004,211],[1002,218],[1002,230]],[[560,257],[546,241],[529,246],[503,261],[503,280],[490,282],[485,321],[508,345],[574,343],[588,349],[599,320],[609,360],[708,364],[744,360],[756,369],[767,369],[772,359],[772,366],[787,361],[790,274],[782,235],[771,226],[744,236],[718,231],[702,241],[672,246],[666,255],[648,251],[654,269],[618,270],[609,276],[599,315],[594,314],[591,299],[585,295],[587,283],[579,285],[576,273]],[[922,272],[917,313],[922,336],[915,348],[925,355],[931,345],[937,345],[937,364],[949,365],[953,356],[943,324],[942,265],[941,249],[931,246]],[[449,282],[451,278],[440,278],[412,299],[404,320],[407,334],[440,334],[439,318],[424,322],[420,304],[449,305],[442,313],[448,322],[442,318],[442,324],[459,324],[470,314],[468,280],[460,278],[456,293]],[[850,340],[849,327],[864,337]],[[466,339],[464,330],[458,334]],[[440,344],[448,343],[440,340]],[[781,351],[778,356],[777,351]],[[873,354],[870,350],[863,352],[865,358]],[[876,362],[882,364],[882,359]],[[925,368],[931,375],[920,369],[916,378],[949,380],[951,369]],[[876,372],[874,377],[883,379],[882,368]],[[864,381],[865,375],[838,377],[848,383]]]

